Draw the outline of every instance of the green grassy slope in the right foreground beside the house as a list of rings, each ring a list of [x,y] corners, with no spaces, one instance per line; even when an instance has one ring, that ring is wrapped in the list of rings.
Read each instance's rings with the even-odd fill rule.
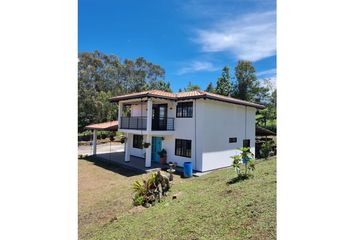
[[[162,203],[127,212],[92,239],[275,239],[276,160],[257,164],[255,177],[227,185],[233,169],[188,179]]]

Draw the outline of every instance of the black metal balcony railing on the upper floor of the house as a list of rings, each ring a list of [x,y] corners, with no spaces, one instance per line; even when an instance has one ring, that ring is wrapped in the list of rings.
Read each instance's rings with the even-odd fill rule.
[[[174,118],[153,118],[152,131],[174,131]],[[121,117],[120,129],[147,130],[147,117]]]

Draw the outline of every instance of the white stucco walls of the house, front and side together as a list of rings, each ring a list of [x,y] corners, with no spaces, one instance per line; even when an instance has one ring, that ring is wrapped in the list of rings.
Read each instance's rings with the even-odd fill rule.
[[[162,148],[167,151],[168,162],[176,162],[178,166],[183,166],[185,161],[191,161],[193,169],[197,171],[227,167],[232,164],[230,157],[237,153],[237,148],[242,147],[244,139],[250,139],[251,151],[254,153],[255,108],[205,99],[187,102],[193,102],[192,118],[176,118],[177,103],[168,102],[168,117],[175,118],[175,131],[171,135],[163,136],[162,141]],[[146,105],[142,109],[143,116],[144,114],[146,116]],[[132,105],[132,116],[141,116],[139,105]],[[162,137],[156,133],[152,136]],[[232,137],[237,138],[236,143],[229,143],[229,138]],[[176,138],[192,140],[191,158],[175,155]],[[131,155],[144,158],[145,149],[132,147],[133,134],[130,134],[128,144]]]

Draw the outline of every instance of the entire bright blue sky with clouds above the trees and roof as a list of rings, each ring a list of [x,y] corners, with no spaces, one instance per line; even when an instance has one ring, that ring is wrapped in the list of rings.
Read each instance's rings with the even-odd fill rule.
[[[79,51],[143,56],[165,69],[174,91],[215,85],[239,59],[275,83],[275,8],[275,0],[79,0]]]

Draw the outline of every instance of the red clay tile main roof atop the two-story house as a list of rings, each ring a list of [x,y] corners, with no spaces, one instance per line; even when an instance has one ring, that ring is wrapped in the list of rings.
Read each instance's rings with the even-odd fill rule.
[[[217,100],[217,101],[221,101],[221,102],[228,102],[228,103],[233,103],[233,104],[238,104],[238,105],[250,106],[250,107],[255,107],[255,108],[259,108],[259,109],[264,108],[263,105],[260,105],[257,103],[243,101],[243,100],[240,100],[237,98],[232,98],[232,97],[226,97],[226,96],[222,96],[219,94],[204,92],[201,90],[190,91],[190,92],[180,92],[180,93],[170,93],[170,92],[164,92],[161,90],[149,90],[149,91],[143,91],[143,92],[138,92],[138,93],[131,93],[131,94],[126,94],[126,95],[116,96],[116,97],[111,98],[111,102],[119,102],[122,100],[144,98],[144,97],[157,97],[157,98],[164,98],[164,99],[170,99],[170,100],[185,100],[185,99],[204,98],[204,99],[212,99],[212,100]]]

